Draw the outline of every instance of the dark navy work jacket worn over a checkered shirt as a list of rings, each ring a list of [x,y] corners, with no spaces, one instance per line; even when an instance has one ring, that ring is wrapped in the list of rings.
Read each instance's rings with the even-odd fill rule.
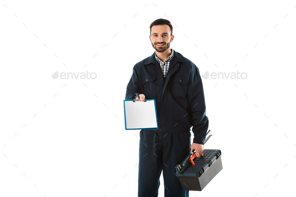
[[[156,101],[158,129],[147,130],[184,132],[192,126],[193,142],[204,144],[209,120],[198,67],[175,51],[165,81],[155,52],[137,62],[132,70],[125,99],[135,99],[135,93],[142,93],[145,99]]]

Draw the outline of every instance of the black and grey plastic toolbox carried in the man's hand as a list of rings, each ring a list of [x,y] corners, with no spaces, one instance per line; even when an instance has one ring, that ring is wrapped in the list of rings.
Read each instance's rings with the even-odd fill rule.
[[[201,191],[222,168],[221,150],[205,149],[201,157],[196,157],[193,149],[182,163],[176,166],[176,175],[183,190]]]

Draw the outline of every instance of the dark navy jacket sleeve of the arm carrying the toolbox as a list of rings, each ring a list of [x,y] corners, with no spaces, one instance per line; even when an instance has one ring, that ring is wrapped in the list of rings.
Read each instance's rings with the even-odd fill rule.
[[[187,89],[188,114],[194,133],[193,143],[204,144],[209,126],[203,83],[198,67],[192,63]]]

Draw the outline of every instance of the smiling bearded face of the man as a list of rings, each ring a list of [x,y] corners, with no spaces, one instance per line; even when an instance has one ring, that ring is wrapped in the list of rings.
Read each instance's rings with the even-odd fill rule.
[[[158,52],[164,52],[170,48],[174,35],[171,36],[171,28],[169,25],[154,25],[151,27],[151,35],[149,36],[152,47]]]

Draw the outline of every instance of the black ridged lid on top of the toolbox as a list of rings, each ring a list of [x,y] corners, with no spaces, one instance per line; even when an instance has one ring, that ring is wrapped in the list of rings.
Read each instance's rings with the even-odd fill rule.
[[[205,170],[212,165],[216,159],[218,159],[221,155],[221,150],[219,149],[205,149],[203,151],[203,157],[196,157],[193,159],[195,165],[189,163],[187,168],[180,173],[177,170],[177,176],[201,176]]]

